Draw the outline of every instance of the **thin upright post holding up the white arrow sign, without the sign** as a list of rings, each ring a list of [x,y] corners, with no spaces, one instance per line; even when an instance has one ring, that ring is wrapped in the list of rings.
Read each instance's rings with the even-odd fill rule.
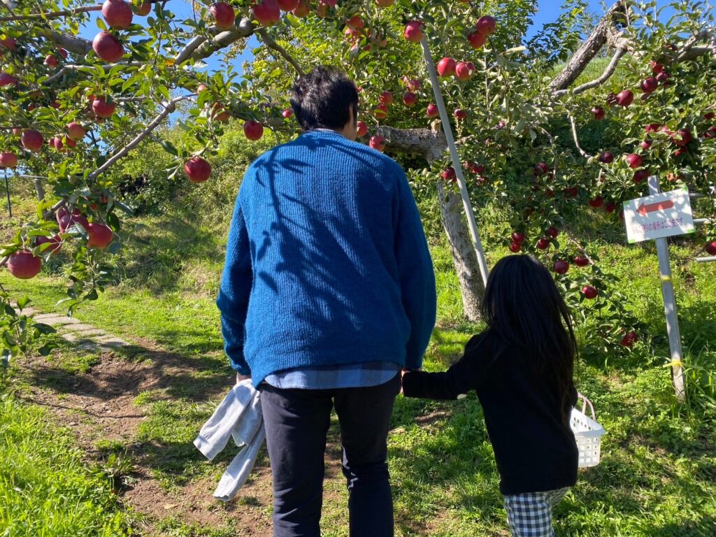
[[[659,177],[649,177],[649,194],[658,194],[662,191],[659,186]],[[672,379],[674,390],[679,402],[686,400],[684,390],[684,373],[681,367],[682,349],[681,332],[679,332],[679,318],[676,309],[676,297],[674,296],[674,284],[672,283],[672,271],[669,264],[669,246],[666,237],[657,238],[657,256],[659,257],[659,276],[662,279],[662,296],[664,297],[664,312],[667,317],[667,334],[669,334],[669,348],[672,359]]]

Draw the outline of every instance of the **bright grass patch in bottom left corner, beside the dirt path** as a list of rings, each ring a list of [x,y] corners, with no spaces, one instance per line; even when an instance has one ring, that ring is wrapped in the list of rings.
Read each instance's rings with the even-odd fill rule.
[[[72,432],[0,396],[0,531],[5,537],[129,535],[112,479],[84,462]]]

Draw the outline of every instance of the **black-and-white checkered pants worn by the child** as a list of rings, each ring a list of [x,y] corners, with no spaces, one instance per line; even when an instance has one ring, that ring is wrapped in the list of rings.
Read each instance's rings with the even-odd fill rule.
[[[513,537],[554,537],[552,508],[569,487],[547,492],[505,495],[505,511]]]

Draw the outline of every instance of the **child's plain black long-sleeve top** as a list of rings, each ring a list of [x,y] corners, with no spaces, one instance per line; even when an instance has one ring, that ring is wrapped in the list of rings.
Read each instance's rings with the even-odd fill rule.
[[[566,403],[531,349],[485,331],[444,373],[406,372],[406,397],[455,399],[475,390],[500,472],[500,492],[555,490],[576,483],[578,451],[569,427],[576,390]],[[567,417],[567,420],[563,416]]]

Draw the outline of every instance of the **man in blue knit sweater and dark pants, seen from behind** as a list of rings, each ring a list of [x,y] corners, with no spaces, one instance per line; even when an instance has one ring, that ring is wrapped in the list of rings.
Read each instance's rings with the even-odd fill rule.
[[[261,390],[274,536],[319,537],[335,406],[352,537],[392,537],[387,433],[400,369],[435,325],[435,275],[395,160],[354,140],[358,92],[317,67],[291,95],[303,133],[257,158],[236,199],[217,305],[238,379]]]

